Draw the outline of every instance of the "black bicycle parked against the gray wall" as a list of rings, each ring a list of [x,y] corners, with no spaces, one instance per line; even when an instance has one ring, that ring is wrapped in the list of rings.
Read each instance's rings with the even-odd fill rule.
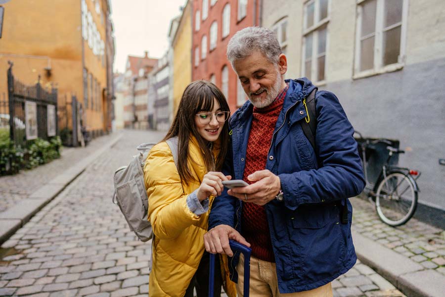
[[[405,224],[417,208],[420,190],[416,180],[421,172],[394,165],[397,164],[397,156],[405,152],[398,148],[398,142],[363,138],[358,131],[355,134],[359,136],[356,141],[366,180],[363,192],[375,203],[380,220],[393,227]],[[371,158],[375,160],[372,164],[374,172],[369,166]]]

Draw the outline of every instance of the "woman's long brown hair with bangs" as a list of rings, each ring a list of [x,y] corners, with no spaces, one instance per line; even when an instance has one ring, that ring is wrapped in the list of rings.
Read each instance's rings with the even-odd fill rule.
[[[224,158],[229,146],[228,120],[224,122],[219,137],[221,141],[221,150],[215,160],[211,149],[207,145],[208,142],[199,135],[195,126],[196,114],[199,112],[212,111],[214,99],[220,104],[221,111],[230,111],[223,93],[211,82],[198,80],[189,84],[182,94],[178,112],[176,113],[172,126],[162,140],[166,141],[172,137],[178,136],[178,172],[179,177],[186,184],[193,179],[190,168],[187,166],[190,134],[198,141],[198,146],[204,158],[204,165],[206,166],[207,171],[219,171],[223,167]],[[192,159],[189,161],[193,162]]]

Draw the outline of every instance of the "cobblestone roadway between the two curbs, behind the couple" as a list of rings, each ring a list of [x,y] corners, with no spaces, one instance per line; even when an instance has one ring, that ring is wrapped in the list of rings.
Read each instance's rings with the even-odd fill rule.
[[[0,296],[147,296],[149,243],[136,240],[112,204],[112,176],[130,161],[139,143],[162,136],[126,131],[12,235],[0,249]],[[360,211],[357,225],[366,221],[357,221]],[[333,288],[340,297],[405,296],[360,261]]]

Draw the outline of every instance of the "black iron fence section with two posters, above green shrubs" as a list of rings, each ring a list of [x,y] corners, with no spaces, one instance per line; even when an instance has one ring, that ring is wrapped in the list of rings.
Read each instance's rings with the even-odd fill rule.
[[[9,62],[7,76],[10,139],[18,146],[27,146],[36,138],[48,140],[58,135],[57,89],[42,88],[40,76],[36,85],[23,84],[14,78],[12,66],[12,62]]]

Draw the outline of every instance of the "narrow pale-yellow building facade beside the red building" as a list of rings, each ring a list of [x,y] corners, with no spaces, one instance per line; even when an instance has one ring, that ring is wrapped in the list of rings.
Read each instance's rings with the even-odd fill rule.
[[[187,2],[173,44],[173,114],[178,110],[185,87],[191,83],[192,29],[190,19],[191,1]]]

